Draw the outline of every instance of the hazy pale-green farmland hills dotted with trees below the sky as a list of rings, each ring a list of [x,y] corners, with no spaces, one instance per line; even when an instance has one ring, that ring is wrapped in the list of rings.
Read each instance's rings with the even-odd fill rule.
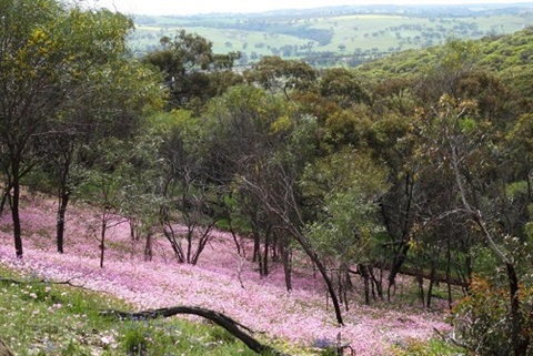
[[[240,51],[241,65],[262,55],[303,59],[316,67],[355,67],[369,60],[533,26],[530,2],[461,6],[346,6],[262,13],[138,16],[131,45],[142,53],[179,29],[213,42],[217,53]]]

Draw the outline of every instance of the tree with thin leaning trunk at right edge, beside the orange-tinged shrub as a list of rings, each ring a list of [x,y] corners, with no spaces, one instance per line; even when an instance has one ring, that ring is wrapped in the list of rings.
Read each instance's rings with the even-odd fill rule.
[[[425,155],[425,160],[439,162],[442,169],[450,172],[456,206],[447,213],[459,214],[465,223],[470,223],[483,242],[481,246],[489,248],[501,265],[496,276],[491,277],[502,276],[501,279],[506,282],[507,315],[504,319],[492,321],[491,333],[500,343],[493,345],[491,352],[526,355],[531,343],[527,322],[531,311],[524,295],[529,288],[524,284],[527,273],[523,274],[521,265],[527,260],[522,260],[521,254],[511,253],[507,247],[510,240],[516,240],[523,248],[527,248],[527,244],[523,244],[526,243],[526,220],[522,221],[520,230],[505,221],[503,213],[514,205],[510,204],[514,197],[514,193],[510,194],[511,187],[516,186],[517,182],[505,170],[499,170],[506,163],[502,155],[505,148],[502,133],[476,112],[474,101],[443,95],[439,105],[420,121],[419,152]],[[462,325],[460,330],[469,334],[472,327]],[[484,340],[477,342],[480,347],[491,344],[484,346]]]

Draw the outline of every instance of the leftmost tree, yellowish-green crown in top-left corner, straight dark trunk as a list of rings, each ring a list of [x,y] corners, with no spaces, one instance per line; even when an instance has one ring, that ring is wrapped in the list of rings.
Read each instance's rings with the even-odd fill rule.
[[[36,164],[37,138],[91,87],[88,72],[122,55],[132,21],[54,0],[2,0],[0,6],[2,169],[12,189],[16,253],[22,257],[20,184]]]

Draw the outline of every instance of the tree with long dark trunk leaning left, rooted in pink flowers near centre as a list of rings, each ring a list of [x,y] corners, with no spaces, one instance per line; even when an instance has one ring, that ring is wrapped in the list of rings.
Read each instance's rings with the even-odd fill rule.
[[[232,187],[240,204],[257,204],[242,211],[253,214],[249,216],[252,224],[257,223],[259,212],[262,222],[258,226],[265,228],[263,233],[272,228],[280,236],[279,243],[290,238],[304,251],[320,271],[336,319],[343,324],[333,283],[304,233],[309,214],[299,181],[306,162],[315,154],[316,121],[301,115],[283,96],[269,95],[263,89],[249,85],[232,88],[211,102],[204,120],[212,130],[213,171],[221,172],[219,177]],[[288,247],[282,245],[282,254],[288,253]],[[285,264],[288,289],[291,288],[289,273]]]

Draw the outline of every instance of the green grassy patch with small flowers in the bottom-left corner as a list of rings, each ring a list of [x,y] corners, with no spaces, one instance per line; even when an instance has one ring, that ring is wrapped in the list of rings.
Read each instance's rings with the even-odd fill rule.
[[[177,318],[119,321],[100,309],[123,302],[64,285],[27,281],[0,267],[0,337],[18,356],[255,355],[224,329]]]

